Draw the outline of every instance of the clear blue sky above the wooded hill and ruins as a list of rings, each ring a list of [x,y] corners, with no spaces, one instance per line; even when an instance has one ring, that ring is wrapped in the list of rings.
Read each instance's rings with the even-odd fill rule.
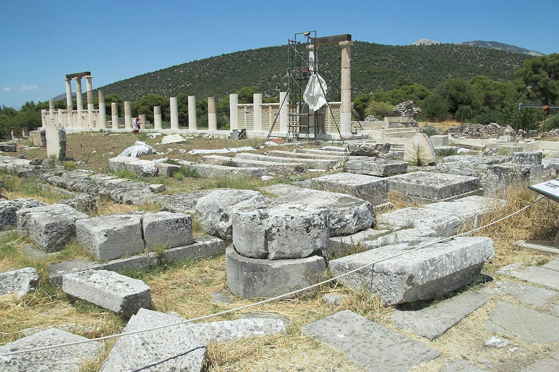
[[[558,8],[557,0],[8,0],[0,10],[0,104],[19,108],[64,93],[69,73],[91,71],[96,89],[196,59],[283,45],[307,30],[390,45],[499,41],[550,54],[559,52]]]

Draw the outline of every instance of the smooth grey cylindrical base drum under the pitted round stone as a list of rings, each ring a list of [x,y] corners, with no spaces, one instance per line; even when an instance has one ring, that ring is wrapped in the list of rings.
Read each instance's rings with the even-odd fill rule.
[[[326,272],[324,258],[319,255],[286,260],[255,259],[241,256],[230,245],[225,258],[229,291],[243,298],[269,298],[305,288],[320,282]]]

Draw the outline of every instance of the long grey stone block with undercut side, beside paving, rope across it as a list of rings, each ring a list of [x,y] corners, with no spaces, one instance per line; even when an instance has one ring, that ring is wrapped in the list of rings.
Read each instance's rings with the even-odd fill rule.
[[[330,260],[330,271],[339,275],[377,262],[340,281],[352,288],[368,288],[387,305],[396,305],[430,299],[465,286],[479,276],[482,265],[495,252],[489,238],[458,237],[390,258],[438,240],[386,245]]]

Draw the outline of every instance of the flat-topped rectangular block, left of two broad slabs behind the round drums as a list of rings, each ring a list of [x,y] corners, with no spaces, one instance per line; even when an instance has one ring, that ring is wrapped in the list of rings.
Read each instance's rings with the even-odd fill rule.
[[[342,172],[312,178],[310,185],[314,189],[352,195],[367,200],[373,206],[388,202],[388,182],[385,178]]]

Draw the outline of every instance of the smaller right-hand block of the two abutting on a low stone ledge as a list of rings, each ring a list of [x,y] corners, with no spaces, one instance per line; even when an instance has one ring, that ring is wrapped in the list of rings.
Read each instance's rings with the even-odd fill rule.
[[[192,218],[184,213],[146,213],[142,219],[145,248],[153,251],[155,245],[167,248],[192,244]]]

